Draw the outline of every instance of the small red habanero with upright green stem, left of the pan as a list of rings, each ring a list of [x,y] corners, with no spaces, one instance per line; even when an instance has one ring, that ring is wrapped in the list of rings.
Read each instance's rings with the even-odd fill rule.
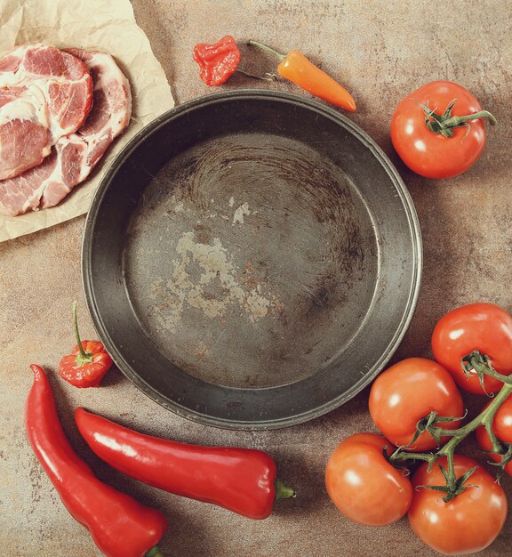
[[[60,360],[59,374],[62,379],[79,388],[99,387],[103,375],[112,366],[112,359],[102,343],[80,340],[76,302],[73,303],[73,320],[76,345],[71,354]]]

